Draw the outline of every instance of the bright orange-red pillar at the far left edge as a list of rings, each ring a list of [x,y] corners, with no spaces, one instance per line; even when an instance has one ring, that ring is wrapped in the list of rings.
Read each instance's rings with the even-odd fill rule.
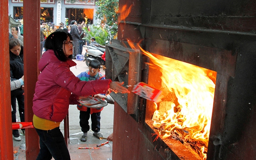
[[[13,159],[8,0],[0,0],[0,159]]]

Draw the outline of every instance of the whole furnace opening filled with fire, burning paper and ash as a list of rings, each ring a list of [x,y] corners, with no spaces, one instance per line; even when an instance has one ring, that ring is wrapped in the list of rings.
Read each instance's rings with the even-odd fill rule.
[[[164,96],[157,104],[147,101],[149,126],[160,138],[177,139],[206,159],[217,72],[157,54],[149,57],[148,84]]]

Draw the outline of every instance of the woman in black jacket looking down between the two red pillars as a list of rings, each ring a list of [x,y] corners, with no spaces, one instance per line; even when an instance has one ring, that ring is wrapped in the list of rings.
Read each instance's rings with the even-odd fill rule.
[[[11,38],[9,41],[9,49],[10,49],[10,76],[11,81],[18,80],[24,75],[24,63],[23,63],[23,46],[21,46],[20,42],[16,38]],[[16,122],[16,99],[18,101],[19,106],[19,117],[21,122],[25,121],[24,117],[24,91],[22,88],[18,88],[16,90],[11,91],[11,107],[13,111],[11,111],[11,119],[12,122]],[[23,134],[25,130],[23,129]],[[19,131],[13,130],[14,140],[20,141]]]

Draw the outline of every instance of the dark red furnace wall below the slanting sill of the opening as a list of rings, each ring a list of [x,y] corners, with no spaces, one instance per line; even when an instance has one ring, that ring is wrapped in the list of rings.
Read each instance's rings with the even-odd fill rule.
[[[139,125],[115,102],[113,160],[164,160]]]

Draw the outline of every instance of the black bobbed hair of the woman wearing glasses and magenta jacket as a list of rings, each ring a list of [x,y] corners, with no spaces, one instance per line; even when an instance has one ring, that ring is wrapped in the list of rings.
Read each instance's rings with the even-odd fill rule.
[[[66,32],[53,32],[50,34],[44,43],[44,48],[46,50],[53,50],[55,53],[55,56],[60,60],[60,61],[67,61],[68,58],[72,59],[72,55],[66,57],[65,53],[63,52],[63,42],[70,37],[70,40],[73,40],[71,34],[66,33]],[[65,50],[65,48],[64,48]]]

